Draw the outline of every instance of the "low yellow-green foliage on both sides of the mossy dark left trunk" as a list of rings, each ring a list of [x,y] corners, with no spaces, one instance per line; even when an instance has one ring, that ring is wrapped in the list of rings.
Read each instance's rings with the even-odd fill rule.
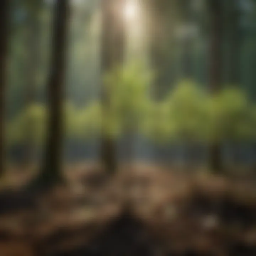
[[[87,139],[96,136],[101,127],[99,102],[77,108],[71,102],[64,104],[64,132],[68,139]],[[25,108],[7,123],[7,144],[26,143],[28,139],[35,145],[42,145],[47,129],[47,108],[34,103]]]

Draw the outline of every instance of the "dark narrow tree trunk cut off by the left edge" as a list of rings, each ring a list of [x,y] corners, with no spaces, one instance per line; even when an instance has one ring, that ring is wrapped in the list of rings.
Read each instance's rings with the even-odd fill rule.
[[[5,89],[9,36],[10,0],[0,1],[0,175],[5,166]]]

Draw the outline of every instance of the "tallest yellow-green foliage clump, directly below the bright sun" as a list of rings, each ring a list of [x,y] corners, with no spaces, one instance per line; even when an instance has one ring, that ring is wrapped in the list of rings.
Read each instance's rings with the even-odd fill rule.
[[[106,135],[121,135],[142,126],[151,108],[152,73],[140,64],[117,68],[105,77],[109,104],[103,109]]]

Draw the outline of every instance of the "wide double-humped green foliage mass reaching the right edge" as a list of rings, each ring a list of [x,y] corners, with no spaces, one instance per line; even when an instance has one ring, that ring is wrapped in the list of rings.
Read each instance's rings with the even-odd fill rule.
[[[180,82],[162,102],[151,104],[144,134],[158,143],[245,142],[255,139],[256,108],[241,90],[211,97],[192,81]]]

